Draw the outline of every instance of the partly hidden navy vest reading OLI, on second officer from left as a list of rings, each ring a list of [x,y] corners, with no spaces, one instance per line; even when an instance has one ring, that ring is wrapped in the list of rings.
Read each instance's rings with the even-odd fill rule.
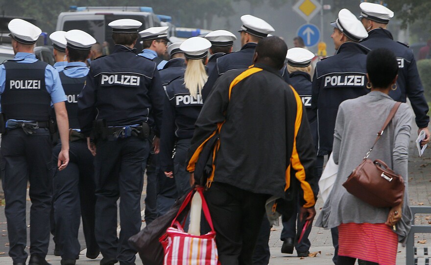
[[[79,129],[78,122],[78,95],[82,88],[85,86],[86,76],[72,78],[64,74],[63,71],[60,73],[61,84],[63,85],[64,92],[66,93],[67,102],[66,110],[69,117],[69,127],[72,129]]]

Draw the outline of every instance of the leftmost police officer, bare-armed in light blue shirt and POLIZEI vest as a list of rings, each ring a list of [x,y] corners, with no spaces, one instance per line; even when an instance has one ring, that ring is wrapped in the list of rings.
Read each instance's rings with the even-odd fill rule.
[[[27,227],[25,194],[30,182],[30,265],[48,265],[49,213],[52,199],[50,105],[56,113],[62,148],[56,161],[63,170],[69,162],[69,124],[66,96],[57,70],[38,61],[33,53],[41,29],[21,19],[8,28],[15,52],[0,65],[1,162],[4,212],[9,237],[9,256],[25,265]],[[49,130],[51,128],[51,130]]]

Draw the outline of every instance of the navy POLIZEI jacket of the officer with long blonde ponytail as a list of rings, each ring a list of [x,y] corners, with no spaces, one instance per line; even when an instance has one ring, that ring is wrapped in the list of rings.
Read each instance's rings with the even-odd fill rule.
[[[163,123],[160,135],[160,168],[172,171],[172,150],[175,139],[191,139],[194,124],[203,106],[202,96],[190,95],[184,78],[173,80],[166,88]]]

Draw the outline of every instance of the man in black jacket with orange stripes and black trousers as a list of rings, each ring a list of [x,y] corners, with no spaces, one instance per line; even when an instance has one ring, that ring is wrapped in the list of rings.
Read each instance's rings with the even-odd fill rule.
[[[308,214],[311,220],[315,215],[311,187],[315,151],[301,99],[280,75],[286,53],[280,38],[261,40],[254,66],[220,77],[196,121],[189,172],[194,171],[202,145],[220,130],[205,198],[221,264],[252,264],[265,202],[271,196],[284,198],[295,178],[301,183],[301,218]]]

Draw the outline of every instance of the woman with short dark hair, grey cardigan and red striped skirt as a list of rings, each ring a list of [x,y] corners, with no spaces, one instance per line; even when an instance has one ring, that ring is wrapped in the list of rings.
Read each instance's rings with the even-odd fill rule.
[[[406,242],[412,219],[408,208],[407,160],[413,115],[406,103],[401,104],[369,157],[383,160],[404,178],[404,202],[393,208],[374,207],[342,186],[373,145],[395,104],[388,95],[391,89],[397,89],[398,64],[393,52],[386,48],[371,51],[366,67],[370,93],[346,100],[338,108],[333,147],[338,174],[316,225],[338,227],[337,264],[353,265],[361,259],[369,265],[395,265],[398,242]]]

